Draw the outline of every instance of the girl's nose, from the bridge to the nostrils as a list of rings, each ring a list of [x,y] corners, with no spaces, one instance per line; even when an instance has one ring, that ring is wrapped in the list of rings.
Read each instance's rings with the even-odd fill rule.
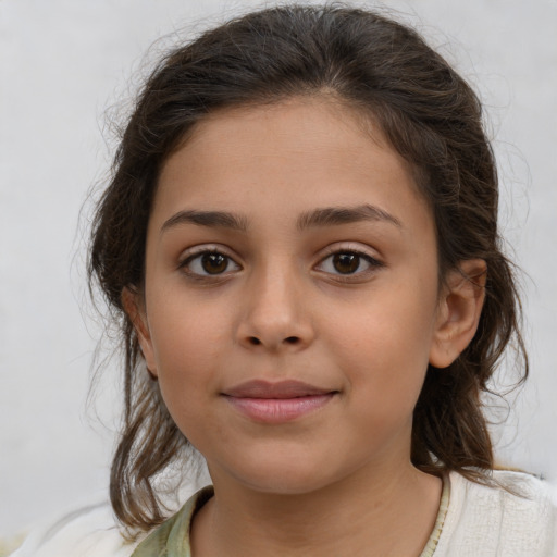
[[[299,281],[292,270],[268,269],[253,276],[244,294],[238,342],[250,349],[300,350],[314,338],[314,330]]]

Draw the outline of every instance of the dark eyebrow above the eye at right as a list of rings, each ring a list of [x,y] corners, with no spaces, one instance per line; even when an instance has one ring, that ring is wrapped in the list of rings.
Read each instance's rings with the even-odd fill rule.
[[[314,226],[331,226],[361,221],[386,222],[403,228],[403,224],[396,216],[372,205],[315,209],[314,211],[302,213],[298,219],[297,226],[298,230],[302,231]]]

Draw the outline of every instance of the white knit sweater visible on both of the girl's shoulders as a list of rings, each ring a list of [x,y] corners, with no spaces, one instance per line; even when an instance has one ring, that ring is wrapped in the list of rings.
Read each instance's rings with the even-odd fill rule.
[[[522,496],[450,474],[434,557],[557,557],[557,507],[547,484],[518,472],[494,472],[494,479]],[[12,557],[131,557],[136,545],[125,543],[102,505],[37,530]]]

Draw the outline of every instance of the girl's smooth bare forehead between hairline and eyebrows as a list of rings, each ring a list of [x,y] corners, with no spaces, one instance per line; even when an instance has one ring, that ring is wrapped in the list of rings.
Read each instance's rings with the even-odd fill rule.
[[[335,100],[296,98],[198,123],[163,165],[152,216],[195,208],[257,218],[259,209],[362,202],[388,212],[419,206],[429,216],[409,164],[370,117]]]

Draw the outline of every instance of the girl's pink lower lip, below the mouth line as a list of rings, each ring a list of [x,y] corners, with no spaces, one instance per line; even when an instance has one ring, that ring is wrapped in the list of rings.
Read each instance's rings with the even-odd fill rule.
[[[226,400],[251,420],[263,423],[285,423],[323,408],[333,396],[334,393],[296,398],[240,398],[227,396]]]

